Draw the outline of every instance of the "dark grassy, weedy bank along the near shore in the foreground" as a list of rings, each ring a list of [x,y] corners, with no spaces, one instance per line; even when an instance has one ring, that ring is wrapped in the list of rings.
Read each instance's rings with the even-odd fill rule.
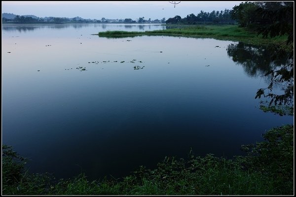
[[[56,180],[31,174],[27,160],[2,146],[3,195],[293,195],[294,126],[273,128],[264,141],[242,146],[247,156],[234,159],[189,153],[166,157],[156,169],[140,166],[121,179],[88,181],[84,174]]]

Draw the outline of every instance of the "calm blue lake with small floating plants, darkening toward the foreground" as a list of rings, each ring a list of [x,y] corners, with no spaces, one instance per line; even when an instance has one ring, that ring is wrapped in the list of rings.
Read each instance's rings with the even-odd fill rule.
[[[264,113],[255,46],[216,39],[91,35],[152,24],[2,24],[2,144],[33,173],[119,178],[165,156],[242,155],[291,116]],[[253,52],[256,53],[253,53]],[[270,63],[270,64],[269,64]],[[280,63],[279,63],[280,64]],[[279,90],[276,90],[280,92]],[[261,99],[265,102],[265,99]]]

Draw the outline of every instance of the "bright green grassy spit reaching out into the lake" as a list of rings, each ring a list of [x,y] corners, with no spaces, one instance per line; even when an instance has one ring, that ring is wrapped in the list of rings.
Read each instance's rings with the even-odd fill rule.
[[[262,35],[257,36],[257,33],[255,31],[250,31],[246,28],[240,28],[237,25],[184,25],[172,27],[172,29],[146,32],[107,31],[99,32],[98,35],[100,37],[135,37],[142,35],[185,36],[196,38],[215,38],[219,40],[242,41],[247,44],[255,45],[278,44],[287,39],[287,36],[275,38],[262,38]]]

